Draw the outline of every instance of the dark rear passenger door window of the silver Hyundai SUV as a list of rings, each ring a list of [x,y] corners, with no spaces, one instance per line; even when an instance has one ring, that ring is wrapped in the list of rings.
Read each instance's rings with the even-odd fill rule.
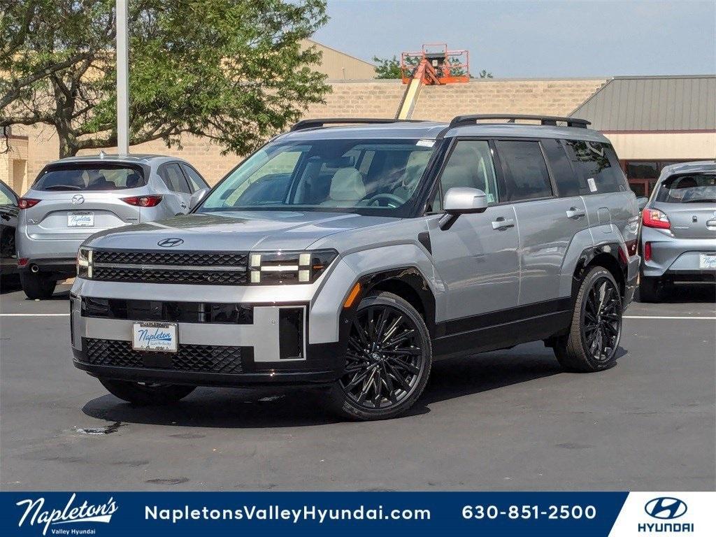
[[[548,198],[553,195],[539,142],[500,140],[497,145],[505,170],[503,201]]]

